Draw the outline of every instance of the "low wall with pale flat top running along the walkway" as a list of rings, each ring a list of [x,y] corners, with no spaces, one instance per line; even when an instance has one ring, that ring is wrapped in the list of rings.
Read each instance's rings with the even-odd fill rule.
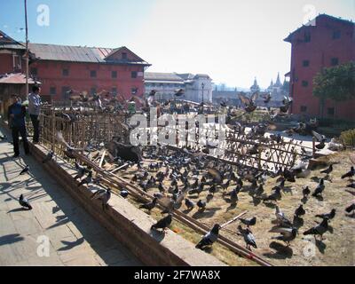
[[[35,145],[30,145],[30,148],[36,160],[42,163],[47,150],[43,146]],[[109,201],[109,208],[104,211],[100,201],[91,200],[91,190],[85,186],[77,187],[71,176],[74,170],[67,162],[58,159],[58,161],[44,164],[43,168],[144,264],[152,266],[225,265],[216,257],[194,248],[193,243],[186,241],[177,233],[168,230],[164,235],[151,231],[150,227],[156,221],[121,196],[113,194]]]

